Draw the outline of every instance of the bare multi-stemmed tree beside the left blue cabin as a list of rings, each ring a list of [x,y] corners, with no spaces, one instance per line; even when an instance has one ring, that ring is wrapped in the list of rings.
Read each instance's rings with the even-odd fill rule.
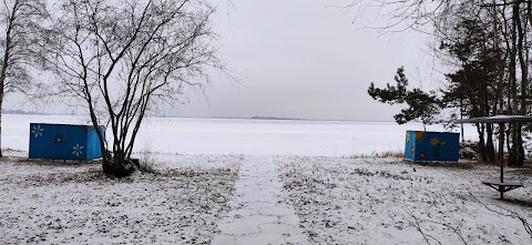
[[[204,88],[207,71],[222,69],[214,8],[204,0],[65,0],[58,10],[51,64],[61,93],[81,99],[96,127],[103,171],[126,176],[146,111],[172,104],[187,88]]]

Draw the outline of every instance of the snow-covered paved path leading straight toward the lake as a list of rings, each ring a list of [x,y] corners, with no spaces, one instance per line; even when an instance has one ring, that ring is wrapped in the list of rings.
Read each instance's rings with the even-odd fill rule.
[[[213,245],[307,244],[295,210],[283,201],[283,182],[272,156],[243,161],[233,211],[218,223]]]

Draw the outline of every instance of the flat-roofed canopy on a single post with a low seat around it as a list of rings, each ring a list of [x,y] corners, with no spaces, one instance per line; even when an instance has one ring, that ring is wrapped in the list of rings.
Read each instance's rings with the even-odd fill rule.
[[[499,193],[501,193],[501,198],[504,198],[504,193],[512,191],[518,187],[522,187],[523,184],[514,181],[504,181],[504,123],[513,122],[532,122],[532,116],[529,115],[494,115],[494,116],[484,116],[475,119],[464,119],[457,120],[453,123],[497,123],[499,124],[499,162],[501,165],[501,176],[500,180],[488,180],[483,181],[482,184],[485,184]]]

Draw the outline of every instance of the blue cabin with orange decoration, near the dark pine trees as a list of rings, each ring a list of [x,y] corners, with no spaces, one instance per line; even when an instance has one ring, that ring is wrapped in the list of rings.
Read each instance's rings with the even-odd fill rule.
[[[413,162],[458,162],[459,133],[407,131],[405,157]]]

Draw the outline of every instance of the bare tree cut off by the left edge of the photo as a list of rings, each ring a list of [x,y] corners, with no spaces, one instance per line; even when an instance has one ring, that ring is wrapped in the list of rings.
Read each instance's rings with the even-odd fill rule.
[[[0,7],[0,157],[1,122],[4,95],[9,92],[28,92],[32,81],[29,68],[40,62],[42,21],[48,17],[41,0],[3,0]]]

